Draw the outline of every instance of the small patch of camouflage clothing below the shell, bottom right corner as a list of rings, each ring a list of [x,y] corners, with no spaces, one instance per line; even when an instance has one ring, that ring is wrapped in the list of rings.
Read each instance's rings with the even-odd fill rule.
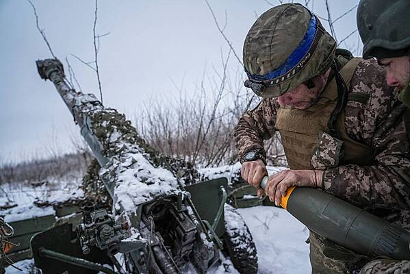
[[[409,274],[410,261],[398,261],[390,259],[372,260],[363,266],[359,274]]]

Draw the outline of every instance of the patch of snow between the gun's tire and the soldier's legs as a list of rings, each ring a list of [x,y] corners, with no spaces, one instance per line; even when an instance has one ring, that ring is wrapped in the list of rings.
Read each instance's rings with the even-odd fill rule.
[[[282,208],[256,206],[238,210],[255,241],[261,274],[311,273],[309,230]]]

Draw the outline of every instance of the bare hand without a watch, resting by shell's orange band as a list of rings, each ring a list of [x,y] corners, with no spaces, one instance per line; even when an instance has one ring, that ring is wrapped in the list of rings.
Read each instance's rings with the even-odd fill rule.
[[[313,188],[322,187],[322,177],[324,171],[296,171],[287,169],[274,173],[266,183],[265,192],[270,201],[276,206],[281,203],[281,198],[286,196],[287,188],[290,186],[310,186]]]

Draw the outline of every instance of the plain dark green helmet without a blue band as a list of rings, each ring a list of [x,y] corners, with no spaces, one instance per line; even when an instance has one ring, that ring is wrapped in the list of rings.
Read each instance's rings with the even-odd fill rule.
[[[361,0],[357,28],[363,41],[363,58],[409,55],[409,14],[409,0]]]

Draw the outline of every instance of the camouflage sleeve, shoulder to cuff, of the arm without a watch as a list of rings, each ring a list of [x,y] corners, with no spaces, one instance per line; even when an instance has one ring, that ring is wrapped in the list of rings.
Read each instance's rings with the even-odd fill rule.
[[[355,72],[350,91],[367,93],[370,99],[363,105],[348,102],[345,125],[352,138],[373,147],[375,164],[326,169],[323,186],[362,208],[409,208],[410,144],[404,118],[409,110],[397,101],[396,90],[385,85],[384,71],[374,62],[362,61]]]

